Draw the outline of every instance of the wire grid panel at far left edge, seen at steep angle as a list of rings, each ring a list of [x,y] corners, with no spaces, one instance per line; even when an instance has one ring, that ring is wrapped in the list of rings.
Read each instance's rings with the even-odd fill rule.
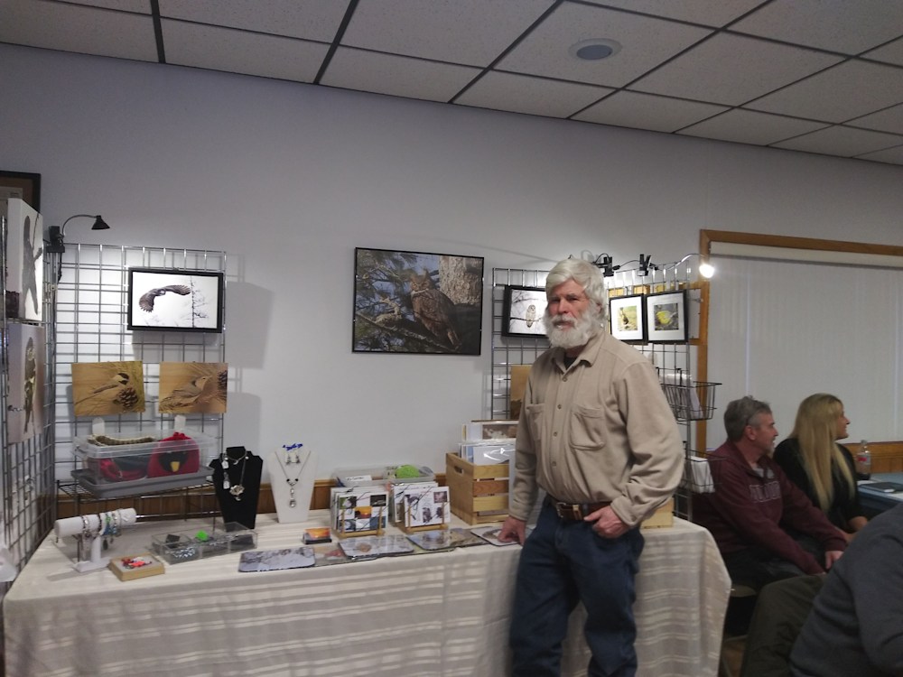
[[[0,251],[6,252],[8,236],[5,215],[0,213]],[[46,274],[46,273],[45,273]],[[46,279],[46,278],[45,278]],[[46,289],[46,285],[44,285]],[[43,316],[48,315],[46,293]],[[51,530],[56,519],[55,485],[53,482],[53,447],[51,438],[52,390],[50,379],[41,377],[42,403],[40,427],[30,439],[13,441],[10,427],[13,417],[7,415],[16,410],[11,400],[13,388],[23,388],[22,383],[11,383],[10,331],[15,324],[42,327],[44,329],[43,358],[41,365],[49,364],[48,346],[51,345],[51,328],[45,321],[7,319],[6,276],[0,274],[0,478],[2,478],[2,537],[9,549],[11,561],[17,570],[31,558],[43,537]],[[14,421],[18,422],[16,417]],[[18,437],[18,436],[16,436]],[[0,597],[11,583],[0,583]]]

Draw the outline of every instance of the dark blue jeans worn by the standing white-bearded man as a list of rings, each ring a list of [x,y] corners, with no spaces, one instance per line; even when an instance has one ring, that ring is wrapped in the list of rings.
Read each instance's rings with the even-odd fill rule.
[[[568,617],[586,607],[590,677],[637,672],[634,578],[643,534],[602,538],[588,522],[565,522],[545,505],[517,566],[510,645],[513,677],[557,677]]]

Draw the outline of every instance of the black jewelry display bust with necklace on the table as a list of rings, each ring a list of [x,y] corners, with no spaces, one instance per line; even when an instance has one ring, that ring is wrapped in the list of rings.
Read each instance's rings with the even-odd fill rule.
[[[228,447],[210,462],[210,468],[223,522],[237,522],[253,529],[264,460],[244,447]]]

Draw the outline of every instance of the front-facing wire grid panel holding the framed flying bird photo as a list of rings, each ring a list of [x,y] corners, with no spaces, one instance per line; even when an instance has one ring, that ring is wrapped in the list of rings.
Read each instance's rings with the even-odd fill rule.
[[[137,360],[144,372],[143,413],[108,416],[107,432],[172,430],[172,414],[157,411],[161,362],[225,362],[225,332],[195,333],[126,329],[129,268],[226,272],[224,252],[132,246],[70,245],[61,256],[56,294],[54,365],[55,478],[71,480],[78,468],[73,440],[92,431],[91,417],[73,414],[73,362]],[[221,300],[220,300],[221,301]],[[222,449],[222,414],[184,414]]]

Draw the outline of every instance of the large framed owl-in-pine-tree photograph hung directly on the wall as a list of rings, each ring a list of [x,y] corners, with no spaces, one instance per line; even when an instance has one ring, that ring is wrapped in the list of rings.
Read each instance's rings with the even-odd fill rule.
[[[479,355],[483,258],[354,250],[356,353]]]

